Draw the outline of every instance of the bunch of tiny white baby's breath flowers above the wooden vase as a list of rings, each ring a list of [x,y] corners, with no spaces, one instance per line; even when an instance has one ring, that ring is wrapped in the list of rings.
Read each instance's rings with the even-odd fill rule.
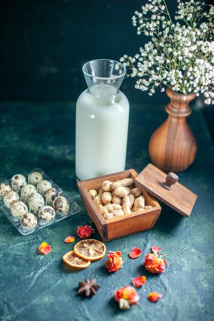
[[[214,6],[203,12],[203,0],[177,1],[176,23],[164,0],[148,0],[141,12],[135,11],[133,26],[138,34],[151,36],[151,41],[140,48],[140,54],[124,55],[120,61],[131,69],[131,77],[140,77],[135,88],[148,90],[149,95],[163,83],[185,94],[184,99],[189,92],[196,96],[201,92],[205,103],[213,104]]]

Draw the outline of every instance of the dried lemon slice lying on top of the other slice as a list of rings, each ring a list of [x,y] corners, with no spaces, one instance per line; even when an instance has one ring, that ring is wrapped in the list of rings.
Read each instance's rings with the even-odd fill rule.
[[[105,244],[92,238],[76,243],[73,250],[76,255],[90,261],[101,259],[106,254]]]

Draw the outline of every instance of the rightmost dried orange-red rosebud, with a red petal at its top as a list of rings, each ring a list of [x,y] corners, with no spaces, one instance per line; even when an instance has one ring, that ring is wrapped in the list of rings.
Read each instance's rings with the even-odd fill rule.
[[[145,266],[145,269],[151,273],[163,273],[166,267],[166,260],[161,258],[160,254],[158,254],[158,252],[161,251],[161,248],[152,246],[152,251],[154,253],[149,253],[144,257],[143,265]]]

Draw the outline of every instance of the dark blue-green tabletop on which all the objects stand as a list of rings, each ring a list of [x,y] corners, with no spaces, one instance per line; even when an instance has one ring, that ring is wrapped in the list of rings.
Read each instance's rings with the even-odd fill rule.
[[[79,240],[77,226],[88,224],[74,173],[74,103],[1,103],[1,179],[15,172],[41,167],[82,207],[73,215],[34,234],[23,236],[0,213],[0,319],[1,321],[211,321],[213,320],[213,179],[214,152],[200,110],[188,117],[198,141],[193,165],[179,175],[180,183],[199,197],[189,218],[161,204],[155,227],[146,232],[106,243],[107,251],[121,250],[123,268],[109,274],[105,259],[86,270],[73,272],[62,256]],[[155,117],[154,117],[155,115]],[[148,139],[166,118],[163,105],[131,105],[127,168],[140,172],[149,162]],[[65,244],[67,235],[76,236]],[[99,238],[96,233],[95,238]],[[47,256],[37,254],[46,241],[52,246]],[[161,275],[145,271],[143,257],[152,245],[167,255]],[[142,255],[132,260],[135,246]],[[131,285],[135,276],[146,275],[147,283],[138,289],[140,301],[129,311],[120,311],[112,299],[114,289]],[[101,288],[91,298],[77,294],[78,282],[85,277],[98,279]],[[163,295],[151,304],[147,295]]]

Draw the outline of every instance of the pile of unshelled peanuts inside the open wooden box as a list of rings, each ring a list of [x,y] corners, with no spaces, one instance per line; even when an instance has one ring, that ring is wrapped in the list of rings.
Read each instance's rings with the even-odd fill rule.
[[[97,192],[92,189],[89,195],[105,219],[142,211],[152,206],[145,206],[145,197],[139,188],[133,188],[133,179],[124,178],[116,182],[104,180]]]

